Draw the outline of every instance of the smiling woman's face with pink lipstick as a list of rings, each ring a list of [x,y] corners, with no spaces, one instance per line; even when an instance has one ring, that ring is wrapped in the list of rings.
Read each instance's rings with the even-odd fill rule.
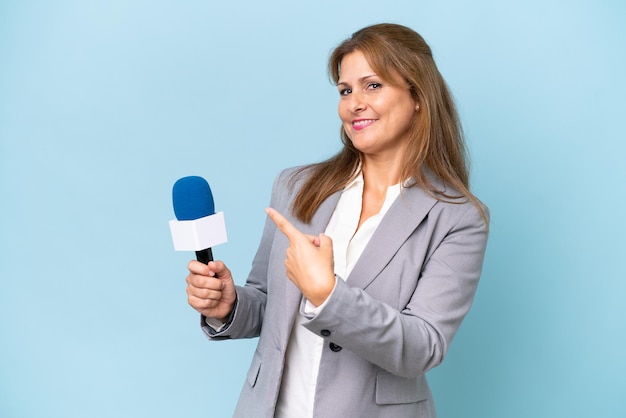
[[[352,144],[365,156],[401,156],[418,106],[406,83],[399,74],[394,85],[381,79],[361,51],[343,57],[340,69],[339,117]]]

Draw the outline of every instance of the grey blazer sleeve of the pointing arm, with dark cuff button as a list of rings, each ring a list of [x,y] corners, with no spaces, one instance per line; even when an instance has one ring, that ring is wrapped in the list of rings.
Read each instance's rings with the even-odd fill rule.
[[[367,290],[337,280],[324,309],[305,326],[398,376],[416,377],[440,364],[472,304],[487,242],[487,224],[478,209],[472,204],[456,206],[449,206],[455,215],[452,222],[445,216],[447,226],[418,227],[430,229],[433,247],[420,271],[404,268],[415,265],[414,260],[406,264],[392,260],[387,267],[391,272],[383,271],[384,280],[419,276],[406,306],[391,306]],[[431,211],[428,221],[435,217]],[[424,236],[414,233],[412,238]]]

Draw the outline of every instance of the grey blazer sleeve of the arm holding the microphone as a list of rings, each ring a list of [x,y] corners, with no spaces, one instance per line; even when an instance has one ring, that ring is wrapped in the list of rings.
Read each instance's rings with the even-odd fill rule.
[[[285,200],[284,179],[287,172],[283,171],[274,180],[272,187],[271,207],[280,207]],[[267,217],[261,243],[252,261],[252,269],[244,286],[236,286],[237,301],[234,311],[226,326],[215,331],[201,317],[200,325],[210,339],[253,338],[261,333],[265,306],[267,303],[268,264],[272,250],[272,242],[276,233],[276,225]]]

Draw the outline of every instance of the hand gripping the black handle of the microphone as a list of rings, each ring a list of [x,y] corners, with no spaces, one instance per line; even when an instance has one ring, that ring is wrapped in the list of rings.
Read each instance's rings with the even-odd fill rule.
[[[203,264],[192,260],[187,265],[187,301],[207,318],[226,322],[237,299],[230,270],[221,261]]]

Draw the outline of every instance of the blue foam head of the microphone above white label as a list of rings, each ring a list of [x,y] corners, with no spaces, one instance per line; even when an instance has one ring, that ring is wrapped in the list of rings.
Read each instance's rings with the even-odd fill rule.
[[[174,214],[179,221],[193,221],[215,213],[213,194],[202,177],[178,179],[172,188]]]

